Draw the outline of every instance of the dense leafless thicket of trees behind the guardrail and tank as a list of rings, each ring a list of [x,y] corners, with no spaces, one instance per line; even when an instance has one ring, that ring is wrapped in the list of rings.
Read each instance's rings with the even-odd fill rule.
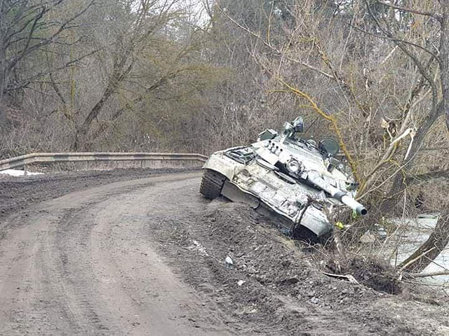
[[[302,115],[361,183],[355,237],[432,211],[447,243],[448,99],[447,1],[0,1],[1,158],[209,154]]]

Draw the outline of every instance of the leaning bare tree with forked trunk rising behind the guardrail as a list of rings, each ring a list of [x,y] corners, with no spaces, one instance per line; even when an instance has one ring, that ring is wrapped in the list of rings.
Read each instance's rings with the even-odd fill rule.
[[[128,1],[121,10],[121,25],[119,27],[108,26],[112,29],[116,41],[107,46],[105,51],[110,55],[110,69],[107,69],[107,78],[105,87],[98,101],[88,111],[76,130],[74,150],[86,149],[91,147],[92,137],[98,136],[105,130],[105,126],[97,128],[94,134],[89,138],[93,121],[97,120],[105,104],[114,94],[123,90],[125,83],[135,83],[133,90],[128,90],[131,96],[126,102],[126,106],[116,109],[110,120],[114,121],[123,112],[129,110],[135,104],[139,104],[151,92],[159,88],[171,78],[186,71],[186,67],[175,66],[167,69],[154,80],[136,80],[139,76],[136,71],[142,71],[141,67],[145,63],[145,57],[149,57],[148,50],[152,48],[163,48],[163,40],[170,33],[170,25],[174,20],[179,19],[184,14],[182,1],[170,0],[145,0]],[[116,20],[114,20],[116,22]],[[123,27],[124,26],[124,27]],[[164,37],[165,36],[165,37]],[[181,50],[178,55],[178,62],[186,54],[189,48]],[[106,63],[106,66],[109,64]]]

